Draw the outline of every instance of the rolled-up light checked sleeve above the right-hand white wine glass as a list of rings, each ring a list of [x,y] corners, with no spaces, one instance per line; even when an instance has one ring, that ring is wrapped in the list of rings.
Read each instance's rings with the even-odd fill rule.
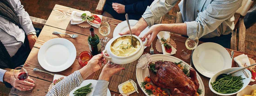
[[[242,0],[214,0],[207,8],[198,13],[195,21],[185,22],[187,35],[198,38],[213,32],[220,24],[231,18],[236,10],[241,7]]]

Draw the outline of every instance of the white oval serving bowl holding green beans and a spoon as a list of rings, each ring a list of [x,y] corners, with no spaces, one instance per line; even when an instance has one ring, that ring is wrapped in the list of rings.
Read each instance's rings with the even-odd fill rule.
[[[235,92],[235,93],[230,93],[230,94],[218,93],[218,92],[215,91],[215,90],[212,88],[212,86],[211,86],[211,82],[216,81],[216,77],[217,77],[218,75],[220,75],[220,74],[222,74],[222,73],[229,73],[229,72],[232,72],[232,71],[237,70],[237,69],[240,69],[240,68],[241,68],[241,67],[232,67],[232,68],[224,69],[224,70],[221,70],[221,71],[217,72],[214,76],[212,76],[212,78],[211,78],[210,81],[209,81],[209,87],[210,87],[211,91],[214,92],[214,93],[216,93],[216,94],[218,94],[218,95],[224,95],[224,96],[233,95],[233,94],[236,94],[236,93],[242,91],[242,90],[250,83],[250,80],[251,80],[251,77],[252,77],[252,74],[251,74],[251,72],[250,72],[248,69],[244,69],[244,70],[249,74],[249,78],[247,78],[247,77],[244,75],[243,70],[241,70],[241,71],[239,71],[239,72],[237,72],[237,73],[232,74],[232,76],[241,76],[242,78],[245,78],[245,79],[242,80],[243,87],[242,87],[240,90],[238,90],[237,92]]]

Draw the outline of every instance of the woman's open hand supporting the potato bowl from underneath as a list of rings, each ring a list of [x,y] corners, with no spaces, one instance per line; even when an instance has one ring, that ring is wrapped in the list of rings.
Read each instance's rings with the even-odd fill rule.
[[[102,69],[99,80],[109,81],[109,78],[115,73],[124,70],[124,67],[120,67],[119,64],[111,64],[109,61]]]

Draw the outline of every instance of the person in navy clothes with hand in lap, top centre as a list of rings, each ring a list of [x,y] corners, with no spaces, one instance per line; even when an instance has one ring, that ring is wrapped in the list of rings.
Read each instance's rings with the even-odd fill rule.
[[[103,16],[125,21],[125,13],[129,19],[139,20],[154,0],[106,0]]]

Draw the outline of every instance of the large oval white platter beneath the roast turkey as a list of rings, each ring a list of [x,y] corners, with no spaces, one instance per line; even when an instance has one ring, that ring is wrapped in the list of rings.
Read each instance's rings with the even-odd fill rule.
[[[151,58],[150,58],[153,62],[155,61],[159,61],[159,60],[163,60],[163,61],[171,61],[171,62],[180,62],[182,60],[176,58],[176,57],[173,57],[173,56],[169,56],[169,55],[165,55],[165,54],[154,54],[154,55],[151,55]],[[186,62],[182,62],[181,63],[182,65],[187,65],[188,69],[192,68],[190,65],[188,65]],[[148,68],[136,68],[136,78],[137,78],[137,82],[138,84],[140,85],[141,82],[144,81],[144,78],[146,76],[149,76],[149,71],[148,71]],[[202,79],[200,78],[200,76],[198,75],[198,73],[196,73],[196,77],[197,77],[197,80],[198,80],[198,83],[199,83],[199,88],[202,89],[202,94],[200,94],[199,96],[204,96],[205,95],[205,87],[204,87],[204,83],[202,81]],[[140,88],[141,90],[147,95],[147,96],[154,96],[153,94],[152,95],[148,95],[146,93],[146,91],[141,87],[140,85]],[[166,89],[164,89],[165,91],[168,91]]]

